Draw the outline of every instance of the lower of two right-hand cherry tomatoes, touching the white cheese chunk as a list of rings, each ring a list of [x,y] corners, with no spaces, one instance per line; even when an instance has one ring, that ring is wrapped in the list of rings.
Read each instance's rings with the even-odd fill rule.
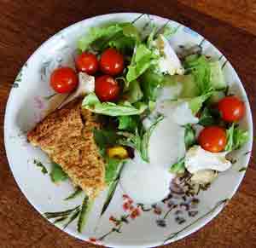
[[[198,142],[209,152],[218,153],[224,150],[227,142],[226,132],[218,126],[209,126],[201,130]]]

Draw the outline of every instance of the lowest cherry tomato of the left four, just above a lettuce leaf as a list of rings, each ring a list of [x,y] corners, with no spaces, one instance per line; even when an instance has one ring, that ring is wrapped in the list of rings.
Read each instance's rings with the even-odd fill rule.
[[[108,75],[96,78],[95,92],[101,101],[116,101],[119,97],[119,84]]]

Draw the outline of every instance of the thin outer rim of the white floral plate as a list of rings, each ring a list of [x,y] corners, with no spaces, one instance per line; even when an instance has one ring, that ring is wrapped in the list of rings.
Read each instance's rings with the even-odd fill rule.
[[[56,35],[57,35],[59,32],[65,32],[65,31],[67,31],[68,29],[73,28],[74,26],[79,26],[80,24],[84,23],[84,21],[89,21],[89,20],[93,20],[93,19],[98,19],[98,18],[101,18],[101,17],[102,17],[102,18],[103,18],[103,17],[114,17],[115,15],[123,15],[123,14],[124,14],[124,15],[128,15],[128,14],[137,15],[137,17],[138,17],[139,15],[147,14],[147,13],[139,13],[139,12],[113,12],[113,13],[109,13],[109,14],[99,14],[99,15],[91,16],[91,17],[86,18],[86,19],[84,19],[84,20],[79,20],[78,22],[75,22],[75,23],[73,23],[73,24],[70,25],[70,26],[67,26],[67,27],[62,28],[62,29],[59,30],[58,32],[55,32],[53,35],[51,35],[48,39],[44,40],[44,42],[41,43],[41,44],[38,46],[38,48],[35,49],[35,50],[32,52],[32,55],[30,55],[30,56],[28,57],[28,59],[25,61],[25,63],[28,63],[29,61],[32,60],[32,58],[33,58],[34,56],[38,55],[39,51],[40,51],[41,49],[44,49],[44,46],[46,46],[48,43],[50,43],[52,40],[54,40],[55,37],[56,37]],[[152,16],[152,17],[156,17],[156,18],[158,18],[158,19],[162,19],[162,20],[171,20],[171,19],[169,19],[169,18],[167,18],[167,17],[162,17],[162,16],[156,15],[156,14],[148,14],[148,15],[149,15],[149,16]],[[175,23],[177,23],[177,24],[179,24],[179,25],[182,25],[182,26],[184,26],[184,27],[187,27],[187,28],[191,29],[189,26],[185,26],[185,25],[183,25],[182,23],[177,22],[177,20],[171,20],[171,21],[173,21],[173,22],[175,22]],[[193,29],[191,29],[191,30],[192,30],[193,32],[195,32]],[[198,32],[196,32],[196,33],[198,33]],[[200,33],[198,33],[198,34],[199,34],[201,37],[205,38],[205,37],[202,36]],[[223,55],[223,53],[218,49],[218,47],[216,47],[213,43],[211,43],[207,38],[205,38],[205,40],[207,41],[207,43],[210,43],[210,44],[214,47],[214,49],[217,49],[218,52],[219,52],[221,55]],[[224,56],[224,58],[226,58],[225,55],[223,55],[223,56]],[[230,63],[229,60],[227,60],[227,61]],[[25,64],[25,63],[24,63],[24,64]],[[22,66],[24,66],[24,65],[22,65]],[[21,66],[20,68],[22,68],[22,66]],[[246,92],[245,88],[243,87],[241,78],[238,76],[235,67],[234,67],[231,63],[230,63],[230,66],[232,67],[232,69],[233,69],[234,72],[236,73],[236,77],[239,78],[239,82],[237,82],[236,84],[240,84],[241,90],[243,91],[243,94],[245,95],[245,98],[246,98],[245,100],[248,102],[247,110],[248,110],[249,112],[248,112],[247,124],[248,124],[248,127],[252,130],[252,131],[250,132],[251,136],[250,136],[250,139],[249,139],[249,141],[248,141],[248,147],[250,148],[250,150],[252,150],[252,147],[253,147],[253,114],[252,114],[252,109],[251,109],[250,101],[248,100],[247,92]],[[15,182],[16,182],[16,184],[18,185],[18,187],[20,188],[21,193],[23,193],[23,195],[25,196],[25,198],[27,199],[27,201],[29,202],[29,204],[32,205],[33,208],[34,208],[36,211],[38,211],[38,213],[40,214],[40,216],[43,216],[43,217],[44,217],[44,213],[43,213],[43,211],[41,210],[40,206],[39,206],[39,205],[36,205],[36,204],[33,204],[33,203],[32,203],[32,200],[27,198],[26,193],[25,193],[25,190],[20,186],[18,180],[16,179],[15,174],[14,174],[14,170],[13,170],[12,165],[11,165],[11,163],[10,163],[10,162],[11,162],[11,161],[10,161],[10,160],[11,160],[11,159],[10,159],[11,156],[10,156],[10,153],[9,153],[9,151],[8,151],[8,148],[7,148],[7,147],[8,147],[8,145],[7,145],[8,136],[7,136],[7,131],[6,131],[6,130],[7,130],[8,117],[9,117],[10,102],[12,101],[13,95],[14,95],[14,88],[10,89],[10,91],[9,91],[9,97],[8,97],[8,101],[7,101],[7,103],[6,103],[5,112],[4,112],[4,122],[3,122],[3,133],[4,133],[4,136],[3,136],[3,140],[4,140],[4,147],[5,147],[6,157],[7,157],[7,159],[8,159],[8,164],[9,164],[10,171],[11,171],[12,175],[14,176]],[[248,167],[248,164],[249,164],[249,162],[250,162],[250,156],[247,156],[246,161],[247,161],[246,167]],[[235,194],[236,191],[238,190],[238,187],[240,187],[241,181],[243,180],[244,176],[245,176],[245,172],[244,172],[244,173],[241,175],[241,177],[237,180],[237,182],[236,182],[236,187],[234,187],[234,189],[233,189],[232,192],[230,193],[229,199],[232,199],[232,197],[234,196],[234,194]],[[204,218],[202,219],[201,223],[195,224],[195,227],[194,227],[194,228],[191,228],[189,231],[188,231],[188,230],[187,230],[187,231],[185,230],[185,231],[182,232],[181,234],[178,234],[177,238],[171,239],[170,241],[166,242],[165,245],[170,244],[170,243],[172,243],[172,242],[175,242],[175,241],[177,241],[177,240],[179,240],[179,239],[183,239],[183,238],[189,236],[190,234],[195,233],[196,231],[198,231],[199,229],[201,229],[201,228],[203,228],[205,225],[207,225],[208,222],[211,222],[212,219],[215,218],[216,216],[218,216],[218,214],[219,214],[223,209],[224,209],[224,205],[220,205],[220,206],[218,207],[218,209],[216,209],[215,211],[212,212],[211,215],[204,217]],[[44,219],[46,219],[46,218],[44,217]],[[48,219],[46,219],[46,220],[47,220],[48,222],[50,222]],[[50,222],[50,223],[51,223],[53,226],[55,226],[55,228],[61,229],[61,227],[59,227],[59,226],[53,224],[52,222]],[[81,239],[81,240],[84,240],[84,241],[86,241],[86,242],[90,242],[89,237],[86,237],[86,236],[84,235],[84,238],[85,238],[85,239],[82,239],[80,234],[76,234],[75,232],[73,232],[73,230],[70,230],[70,229],[68,229],[68,228],[65,229],[65,230],[62,230],[62,229],[61,229],[61,231],[65,232],[65,233],[67,233],[67,234],[72,235],[74,238]],[[87,239],[87,238],[88,238],[88,239]],[[129,247],[131,247],[131,245],[112,244],[111,242],[108,242],[108,241],[105,242],[104,245],[105,245],[105,244],[106,244],[106,245],[109,245],[109,246],[111,246],[111,247],[118,247],[118,246],[119,246],[119,247],[122,247],[122,248],[129,248]],[[117,245],[118,245],[118,246],[117,246]],[[148,245],[149,245],[149,246],[148,246]],[[155,247],[155,246],[158,246],[158,245],[163,245],[163,244],[161,244],[160,242],[154,242],[154,243],[153,243],[153,242],[149,242],[149,243],[144,243],[144,245],[136,245],[136,247],[137,247],[137,248],[144,248],[144,247]]]

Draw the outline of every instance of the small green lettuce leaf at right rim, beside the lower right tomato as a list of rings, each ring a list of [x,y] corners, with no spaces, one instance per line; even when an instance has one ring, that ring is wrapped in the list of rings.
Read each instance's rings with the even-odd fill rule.
[[[249,139],[248,131],[239,129],[234,123],[230,126],[230,129],[226,130],[226,132],[228,141],[225,151],[228,152],[239,149]]]

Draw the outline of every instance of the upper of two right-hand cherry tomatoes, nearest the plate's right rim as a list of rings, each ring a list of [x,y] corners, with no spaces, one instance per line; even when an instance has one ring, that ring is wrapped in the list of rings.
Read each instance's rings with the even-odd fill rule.
[[[239,98],[230,95],[218,101],[218,110],[225,121],[234,122],[244,116],[245,105]]]

